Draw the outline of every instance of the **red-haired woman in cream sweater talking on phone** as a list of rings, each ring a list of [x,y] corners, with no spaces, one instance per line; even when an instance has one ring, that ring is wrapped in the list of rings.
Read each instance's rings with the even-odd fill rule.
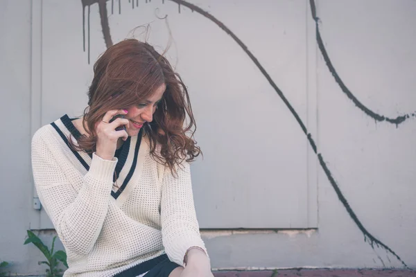
[[[152,46],[127,39],[94,64],[88,98],[83,117],[64,115],[32,141],[37,193],[67,251],[64,276],[212,276],[180,76]]]

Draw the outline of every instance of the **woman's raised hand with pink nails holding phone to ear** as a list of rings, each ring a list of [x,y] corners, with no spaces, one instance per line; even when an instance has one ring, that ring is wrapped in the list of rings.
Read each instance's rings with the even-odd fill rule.
[[[112,109],[107,111],[103,116],[103,119],[96,125],[96,155],[101,157],[101,159],[112,160],[114,158],[114,153],[117,148],[117,141],[120,138],[125,141],[128,138],[127,132],[125,130],[116,131],[116,127],[121,125],[128,125],[128,119],[125,118],[116,118],[112,123],[110,120],[117,114],[127,114],[125,109]]]

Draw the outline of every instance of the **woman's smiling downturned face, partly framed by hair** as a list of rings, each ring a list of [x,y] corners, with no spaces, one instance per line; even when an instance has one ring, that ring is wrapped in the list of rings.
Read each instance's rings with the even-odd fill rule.
[[[128,136],[137,136],[144,123],[153,120],[156,106],[162,99],[165,89],[166,84],[162,84],[148,99],[127,108],[128,113],[125,115],[125,118],[129,120],[129,123],[125,126],[125,130]]]

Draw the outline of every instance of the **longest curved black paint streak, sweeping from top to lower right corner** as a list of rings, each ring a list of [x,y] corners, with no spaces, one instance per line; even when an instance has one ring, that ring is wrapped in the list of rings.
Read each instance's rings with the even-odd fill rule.
[[[241,42],[241,40],[238,37],[236,37],[236,35],[234,33],[232,33],[232,30],[229,30],[229,28],[227,28],[227,26],[225,26],[221,21],[216,19],[213,15],[209,14],[205,10],[202,10],[202,8],[199,8],[198,6],[195,6],[191,3],[188,3],[187,1],[183,1],[183,0],[170,0],[170,1],[175,2],[178,5],[183,5],[187,8],[190,8],[191,10],[195,10],[200,15],[202,15],[204,17],[207,17],[207,19],[211,20],[212,22],[214,22],[214,24],[216,24],[218,27],[223,29],[225,31],[225,33],[227,33],[230,37],[232,37],[234,39],[234,41],[237,44],[239,44],[239,46],[241,46],[241,48],[243,48],[243,51],[250,57],[252,62],[254,62],[254,64],[256,64],[256,66],[259,68],[261,73],[263,73],[264,77],[266,77],[266,79],[268,80],[270,85],[273,87],[273,89],[275,89],[277,94],[280,96],[281,100],[283,100],[286,107],[288,107],[288,109],[291,111],[291,113],[295,117],[297,123],[302,128],[302,131],[304,132],[304,134],[306,134],[306,137],[309,141],[309,144],[311,145],[311,148],[313,149],[313,152],[315,152],[315,154],[317,155],[318,160],[320,162],[320,166],[324,170],[325,175],[327,175],[327,178],[329,179],[329,182],[331,183],[331,186],[335,190],[336,195],[338,196],[338,199],[340,199],[340,202],[343,204],[343,206],[347,210],[347,213],[352,218],[352,220],[355,222],[355,224],[358,226],[358,229],[360,229],[361,232],[363,232],[365,240],[367,238],[370,240],[370,245],[373,249],[374,249],[374,244],[376,244],[377,246],[383,247],[383,249],[392,253],[392,255],[395,256],[397,258],[397,260],[399,260],[405,267],[407,267],[406,263],[403,260],[401,260],[401,258],[397,255],[397,253],[395,253],[395,251],[390,249],[390,247],[388,247],[387,245],[383,244],[383,242],[381,242],[380,240],[377,240],[376,238],[374,238],[374,236],[369,231],[367,231],[367,229],[365,229],[365,227],[363,226],[361,221],[358,220],[358,217],[356,216],[354,211],[352,211],[351,206],[349,206],[349,203],[347,202],[347,199],[345,199],[345,197],[344,197],[343,193],[341,192],[338,184],[336,184],[335,179],[333,179],[331,171],[327,167],[327,164],[324,162],[322,154],[320,154],[320,153],[318,154],[317,149],[316,149],[316,145],[315,145],[315,141],[313,141],[312,135],[310,133],[308,133],[304,123],[302,122],[302,119],[300,119],[300,116],[297,114],[295,109],[293,109],[292,105],[288,102],[288,100],[284,96],[283,92],[277,87],[277,85],[272,80],[272,78],[270,78],[270,75],[268,75],[268,73],[263,68],[263,66],[261,66],[259,60],[257,60],[257,58],[254,57],[254,55],[250,52],[250,50],[248,50],[248,47],[245,46],[245,44],[243,44],[243,42]],[[313,0],[311,0],[311,1],[313,1]],[[313,10],[315,10],[315,7],[313,7]]]

